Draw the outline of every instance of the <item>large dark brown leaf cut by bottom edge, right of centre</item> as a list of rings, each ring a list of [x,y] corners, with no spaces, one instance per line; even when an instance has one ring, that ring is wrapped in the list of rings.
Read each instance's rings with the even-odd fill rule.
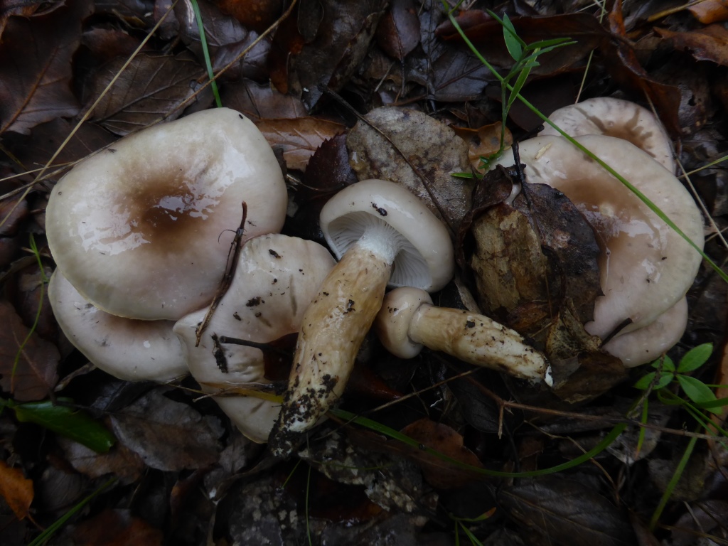
[[[593,488],[568,478],[522,480],[502,489],[500,502],[523,525],[569,546],[633,546],[626,516]]]

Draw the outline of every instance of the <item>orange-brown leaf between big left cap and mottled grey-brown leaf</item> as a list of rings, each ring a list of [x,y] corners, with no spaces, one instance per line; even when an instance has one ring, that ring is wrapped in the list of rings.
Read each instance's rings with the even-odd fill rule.
[[[281,146],[286,167],[306,170],[314,152],[346,127],[336,122],[314,117],[296,119],[258,119],[256,127],[271,146]]]

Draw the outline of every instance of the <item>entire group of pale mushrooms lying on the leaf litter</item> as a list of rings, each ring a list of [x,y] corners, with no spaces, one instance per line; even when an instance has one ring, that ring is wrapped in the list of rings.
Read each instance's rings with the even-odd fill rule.
[[[631,103],[608,104],[620,115],[635,112],[617,131],[663,138],[662,148],[642,151],[604,136],[603,122],[579,141],[702,245],[702,217],[670,172],[659,123]],[[609,119],[589,108],[566,108],[554,120],[578,135],[569,124],[579,116]],[[684,296],[700,256],[562,137],[544,133],[520,149],[529,181],[563,191],[598,234],[604,296],[587,331],[606,336],[628,317],[628,328],[604,347],[626,365],[667,350],[684,331]],[[594,201],[587,183],[609,197]],[[92,363],[121,379],[191,373],[243,434],[269,442],[278,456],[290,454],[341,397],[372,327],[399,357],[430,347],[550,384],[545,356],[520,334],[483,314],[432,304],[429,294],[454,274],[453,245],[407,189],[368,180],[332,197],[320,227],[336,260],[316,242],[279,233],[287,202],[272,150],[237,111],[202,111],[122,139],[76,165],[50,197],[47,237],[58,264],[50,298],[60,327]],[[267,395],[264,354],[254,346],[295,333],[281,404]]]

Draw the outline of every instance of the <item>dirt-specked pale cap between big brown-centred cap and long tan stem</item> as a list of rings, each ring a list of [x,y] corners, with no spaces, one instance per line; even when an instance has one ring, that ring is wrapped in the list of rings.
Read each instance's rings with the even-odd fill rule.
[[[306,307],[336,264],[316,242],[269,234],[245,243],[229,290],[210,318],[199,346],[197,325],[207,309],[188,314],[174,331],[186,347],[189,371],[205,392],[229,387],[270,384],[264,377],[261,349],[221,344],[227,371],[218,366],[213,334],[268,343],[297,332]],[[216,396],[215,401],[240,431],[266,442],[280,412],[280,403],[253,396]]]

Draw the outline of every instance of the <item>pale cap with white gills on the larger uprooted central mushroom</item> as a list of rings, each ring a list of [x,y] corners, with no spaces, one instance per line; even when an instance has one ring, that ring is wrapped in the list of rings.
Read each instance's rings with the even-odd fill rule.
[[[403,237],[389,286],[435,292],[448,283],[455,267],[448,231],[402,186],[375,179],[357,182],[331,197],[320,214],[321,231],[337,258],[376,223],[386,223]]]

